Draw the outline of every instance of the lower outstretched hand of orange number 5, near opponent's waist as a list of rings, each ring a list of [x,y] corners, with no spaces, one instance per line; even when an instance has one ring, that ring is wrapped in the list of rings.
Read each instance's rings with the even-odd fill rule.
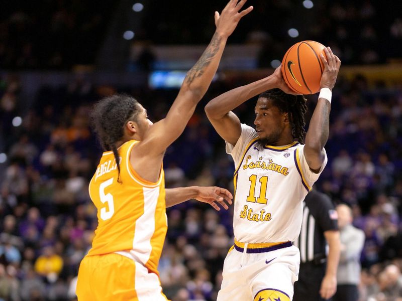
[[[223,208],[228,209],[228,205],[225,201],[232,205],[233,196],[229,192],[229,190],[216,187],[216,186],[207,186],[207,187],[198,187],[197,196],[194,198],[197,201],[210,204],[214,209],[221,210],[218,206],[220,204]]]

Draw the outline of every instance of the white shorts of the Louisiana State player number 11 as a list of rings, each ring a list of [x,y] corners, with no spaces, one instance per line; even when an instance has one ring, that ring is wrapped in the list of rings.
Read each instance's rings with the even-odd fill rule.
[[[246,244],[243,252],[239,247],[229,251],[217,301],[292,300],[300,264],[298,248],[289,242],[270,251],[253,245],[257,244]]]

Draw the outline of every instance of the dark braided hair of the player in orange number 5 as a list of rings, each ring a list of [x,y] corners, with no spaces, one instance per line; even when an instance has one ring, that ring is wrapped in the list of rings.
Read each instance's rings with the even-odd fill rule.
[[[135,121],[140,112],[140,104],[127,94],[117,94],[99,100],[90,114],[90,121],[96,136],[105,151],[112,150],[115,156],[120,180],[120,160],[117,142],[123,138],[124,126]]]

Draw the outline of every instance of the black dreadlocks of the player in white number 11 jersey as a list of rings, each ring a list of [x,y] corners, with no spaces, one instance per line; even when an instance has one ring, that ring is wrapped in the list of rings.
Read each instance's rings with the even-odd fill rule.
[[[271,99],[273,105],[280,112],[288,113],[293,138],[299,143],[305,142],[305,113],[307,112],[307,99],[303,95],[286,94],[280,89],[271,89],[262,92],[258,97]]]

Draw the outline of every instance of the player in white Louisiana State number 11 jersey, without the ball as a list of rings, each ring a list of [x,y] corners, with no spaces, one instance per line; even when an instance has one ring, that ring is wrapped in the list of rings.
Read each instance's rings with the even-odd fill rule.
[[[225,259],[218,301],[293,297],[300,255],[291,241],[300,232],[303,200],[327,164],[331,93],[341,65],[330,48],[325,54],[321,92],[307,134],[306,99],[286,86],[280,67],[205,108],[236,168],[235,245]],[[258,94],[255,128],[241,124],[231,110]]]

